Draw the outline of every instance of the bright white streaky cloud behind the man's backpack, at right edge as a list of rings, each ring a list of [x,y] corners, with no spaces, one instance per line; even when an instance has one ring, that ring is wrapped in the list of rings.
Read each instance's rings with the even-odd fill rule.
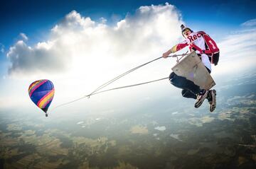
[[[243,28],[218,43],[220,61],[216,74],[235,73],[256,65],[256,28]]]

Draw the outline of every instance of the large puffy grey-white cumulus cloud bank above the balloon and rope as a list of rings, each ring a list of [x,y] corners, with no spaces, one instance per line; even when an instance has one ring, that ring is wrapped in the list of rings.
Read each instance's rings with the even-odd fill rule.
[[[21,33],[23,40],[7,54],[9,74],[54,74],[74,67],[83,69],[107,57],[136,59],[161,54],[181,37],[181,23],[181,14],[168,3],[141,6],[112,26],[104,18],[96,22],[71,11],[50,30],[45,42],[28,46],[28,37]]]

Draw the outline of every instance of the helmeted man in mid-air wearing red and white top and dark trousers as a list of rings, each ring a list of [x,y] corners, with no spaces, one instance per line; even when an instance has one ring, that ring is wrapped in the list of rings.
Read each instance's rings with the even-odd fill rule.
[[[192,50],[196,51],[196,53],[198,54],[198,57],[201,58],[201,61],[206,66],[207,71],[210,73],[211,72],[211,65],[210,65],[210,59],[209,59],[210,57],[208,54],[206,54],[206,51],[209,51],[209,50],[208,50],[208,46],[206,45],[207,44],[206,40],[203,37],[203,35],[206,35],[206,34],[203,34],[204,32],[194,33],[190,28],[187,28],[184,25],[181,25],[181,33],[183,37],[186,38],[186,40],[184,40],[181,43],[178,43],[174,47],[171,47],[171,49],[169,49],[167,52],[164,52],[163,57],[167,58],[169,54],[177,52],[178,50],[183,49],[183,47],[189,46],[191,51]],[[214,42],[214,45],[215,45],[215,42]],[[202,89],[199,86],[197,86],[195,83],[193,83],[193,81],[190,81],[182,76],[178,76],[174,72],[170,74],[169,80],[171,81],[171,84],[173,84],[177,88],[183,89],[181,92],[183,97],[196,99],[196,103],[195,103],[196,108],[200,107],[203,101],[207,98],[208,102],[210,103],[210,112],[213,112],[213,110],[215,110],[216,91],[214,89],[210,91],[206,91],[205,89]]]

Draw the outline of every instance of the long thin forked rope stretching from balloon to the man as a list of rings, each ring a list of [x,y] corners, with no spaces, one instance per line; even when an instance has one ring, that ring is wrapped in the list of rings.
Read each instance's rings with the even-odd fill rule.
[[[187,54],[187,52],[186,52],[186,54]],[[184,57],[186,54],[174,54],[174,55],[171,55],[171,56],[168,56],[168,57],[177,57],[177,61],[178,61],[178,56]],[[110,85],[110,84],[113,83],[114,81],[117,81],[119,78],[122,78],[123,76],[125,76],[125,75],[131,73],[132,71],[135,71],[135,70],[141,68],[142,66],[145,66],[146,64],[150,64],[151,62],[154,62],[154,61],[156,61],[156,60],[158,60],[158,59],[161,59],[161,58],[162,58],[162,57],[158,57],[158,58],[153,59],[153,60],[151,60],[151,61],[149,61],[149,62],[146,62],[146,63],[144,63],[144,64],[141,64],[141,65],[139,65],[139,66],[136,66],[136,67],[134,67],[133,69],[130,69],[129,71],[124,72],[124,74],[120,74],[119,76],[113,78],[112,80],[107,81],[106,83],[103,83],[101,86],[97,87],[94,91],[92,91],[92,93],[90,93],[89,95],[84,95],[84,96],[82,96],[81,98],[72,100],[72,101],[70,101],[70,102],[68,102],[68,103],[63,103],[63,104],[61,104],[61,105],[57,105],[57,106],[53,107],[53,110],[54,110],[55,108],[57,108],[57,107],[61,107],[61,106],[63,106],[63,105],[68,105],[68,104],[70,104],[70,103],[74,103],[74,102],[76,102],[76,101],[78,101],[78,100],[81,100],[81,99],[83,99],[83,98],[90,98],[91,95],[96,95],[96,94],[104,93],[104,92],[107,92],[107,91],[114,91],[114,90],[117,90],[117,89],[120,89],[120,88],[129,88],[129,87],[134,87],[134,86],[140,86],[140,85],[144,85],[144,84],[147,84],[147,83],[153,83],[153,82],[156,82],[156,81],[161,81],[161,80],[164,80],[164,79],[166,79],[166,78],[169,78],[169,77],[166,77],[166,78],[159,78],[159,79],[156,79],[156,80],[154,80],[154,81],[146,81],[146,82],[144,82],[144,83],[137,83],[137,84],[132,84],[132,85],[128,85],[128,86],[121,86],[121,87],[117,87],[117,88],[110,88],[110,89],[107,89],[107,90],[105,90],[105,91],[100,91],[100,89],[105,88],[106,86]]]

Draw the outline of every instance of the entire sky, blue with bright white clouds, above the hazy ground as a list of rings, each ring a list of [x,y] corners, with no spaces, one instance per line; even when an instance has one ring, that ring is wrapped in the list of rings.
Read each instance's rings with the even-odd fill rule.
[[[221,62],[213,76],[251,67],[255,6],[256,1],[1,1],[0,108],[21,103],[30,107],[31,101],[24,100],[27,87],[41,78],[52,80],[58,89],[55,105],[88,94],[183,40],[181,23],[205,30],[218,42]],[[117,86],[168,76],[173,64],[160,62],[142,69]],[[170,88],[169,83],[161,85],[155,87]],[[152,92],[123,94],[132,98],[140,93],[145,101]],[[116,101],[102,98],[102,105]]]

